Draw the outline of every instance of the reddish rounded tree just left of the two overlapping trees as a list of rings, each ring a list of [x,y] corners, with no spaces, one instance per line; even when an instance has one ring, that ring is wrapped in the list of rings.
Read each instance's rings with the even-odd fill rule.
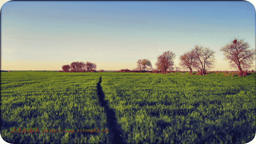
[[[173,70],[174,62],[176,55],[175,53],[171,51],[163,52],[162,55],[159,55],[157,57],[157,62],[155,63],[155,66],[157,67],[157,70],[160,70],[161,72],[166,73],[166,70]]]

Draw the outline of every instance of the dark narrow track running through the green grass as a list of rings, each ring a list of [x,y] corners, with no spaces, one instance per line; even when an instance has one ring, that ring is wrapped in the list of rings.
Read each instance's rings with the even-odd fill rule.
[[[97,95],[99,96],[99,103],[105,109],[105,113],[107,114],[107,125],[109,127],[110,143],[124,144],[125,141],[122,137],[122,126],[117,123],[115,111],[113,109],[110,109],[107,101],[104,99],[105,95],[101,87],[101,77],[99,79],[99,82],[97,83]]]

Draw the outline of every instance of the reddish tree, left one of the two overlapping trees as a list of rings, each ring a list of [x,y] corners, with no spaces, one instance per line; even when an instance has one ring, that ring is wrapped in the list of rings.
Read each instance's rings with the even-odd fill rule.
[[[197,65],[197,55],[194,51],[189,51],[179,57],[179,65],[183,69],[189,69],[189,74],[192,74],[192,68]]]

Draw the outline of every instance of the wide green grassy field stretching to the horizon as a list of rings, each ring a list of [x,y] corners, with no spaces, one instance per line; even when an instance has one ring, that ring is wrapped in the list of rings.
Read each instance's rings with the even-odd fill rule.
[[[9,143],[247,143],[256,131],[255,76],[1,72],[1,136]]]

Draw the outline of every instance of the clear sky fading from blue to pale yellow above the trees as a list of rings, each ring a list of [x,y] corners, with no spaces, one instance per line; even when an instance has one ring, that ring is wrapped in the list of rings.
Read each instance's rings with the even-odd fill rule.
[[[211,70],[230,71],[220,49],[234,38],[255,49],[250,2],[9,1],[1,8],[1,70],[62,70],[74,61],[132,70],[138,59],[155,68],[163,52],[178,65],[199,45],[216,52]]]

